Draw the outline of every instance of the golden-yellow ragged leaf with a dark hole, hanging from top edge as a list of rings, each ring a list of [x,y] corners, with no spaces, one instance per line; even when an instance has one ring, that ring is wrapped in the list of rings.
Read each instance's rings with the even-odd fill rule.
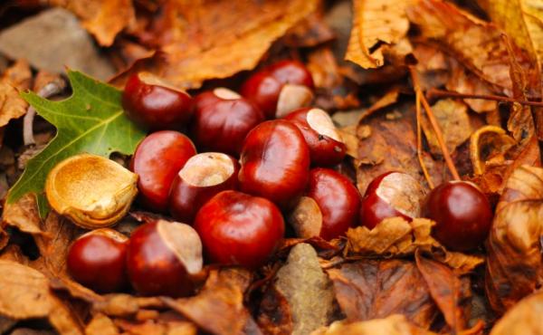
[[[355,0],[353,27],[345,59],[365,69],[385,63],[382,44],[394,44],[405,37],[409,21],[405,8],[414,0]]]

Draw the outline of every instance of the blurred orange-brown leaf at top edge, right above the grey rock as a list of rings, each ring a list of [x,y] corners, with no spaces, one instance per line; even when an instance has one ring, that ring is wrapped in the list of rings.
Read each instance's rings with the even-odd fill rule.
[[[132,0],[48,0],[51,5],[60,5],[82,20],[82,24],[102,46],[110,46],[136,16]]]

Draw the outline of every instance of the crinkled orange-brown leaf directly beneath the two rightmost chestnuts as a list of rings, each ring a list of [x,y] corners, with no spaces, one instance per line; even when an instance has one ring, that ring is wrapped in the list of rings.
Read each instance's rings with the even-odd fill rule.
[[[445,250],[431,235],[433,225],[433,221],[424,218],[407,222],[402,217],[392,217],[371,230],[366,226],[350,228],[347,232],[348,250],[351,254],[385,257],[414,254],[416,250],[433,252],[434,259],[459,274],[470,273],[484,262],[480,255]]]

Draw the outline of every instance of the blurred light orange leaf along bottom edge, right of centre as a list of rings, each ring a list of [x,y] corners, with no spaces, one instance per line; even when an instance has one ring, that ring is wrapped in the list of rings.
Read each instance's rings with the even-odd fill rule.
[[[328,328],[315,330],[311,335],[437,335],[433,331],[416,327],[404,315],[393,314],[385,319],[348,323],[336,321]]]

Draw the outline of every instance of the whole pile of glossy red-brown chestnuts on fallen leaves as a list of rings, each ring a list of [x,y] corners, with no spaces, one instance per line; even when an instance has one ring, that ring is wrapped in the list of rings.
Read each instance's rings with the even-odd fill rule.
[[[349,227],[423,215],[452,250],[481,245],[491,205],[471,183],[446,182],[425,195],[414,177],[391,171],[361,196],[333,169],[347,148],[329,114],[308,106],[313,89],[295,61],[253,73],[241,94],[217,88],[195,98],[147,72],[133,74],[122,104],[151,131],[130,162],[138,204],[177,222],[157,219],[129,238],[109,228],[82,235],[68,256],[72,277],[98,292],[131,285],[142,295],[186,296],[204,259],[251,269],[267,263],[285,220],[298,237],[330,240]]]

